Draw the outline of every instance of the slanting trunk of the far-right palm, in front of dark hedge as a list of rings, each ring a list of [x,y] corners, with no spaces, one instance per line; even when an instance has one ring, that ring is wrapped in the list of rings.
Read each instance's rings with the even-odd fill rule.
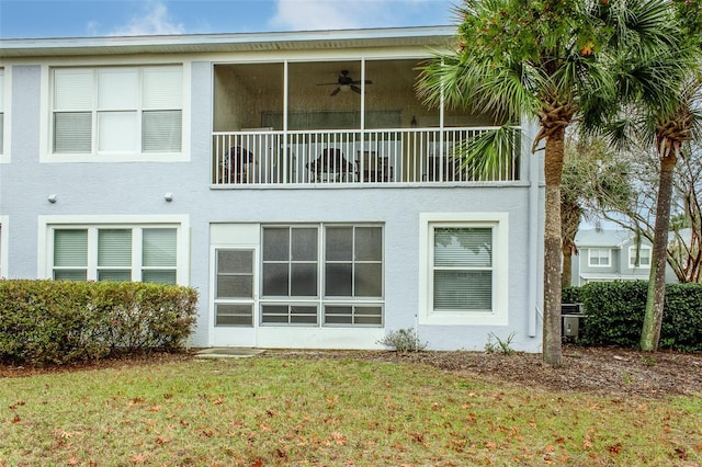
[[[660,159],[660,179],[654,224],[654,246],[646,296],[646,312],[641,332],[641,350],[656,352],[660,340],[663,307],[666,298],[666,258],[668,254],[668,226],[670,224],[670,198],[672,196],[672,172],[676,156],[670,153]]]

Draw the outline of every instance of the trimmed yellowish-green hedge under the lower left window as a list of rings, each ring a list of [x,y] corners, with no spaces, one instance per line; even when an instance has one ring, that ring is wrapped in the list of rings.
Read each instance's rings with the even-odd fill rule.
[[[180,349],[195,322],[190,287],[0,281],[0,361],[63,364]]]

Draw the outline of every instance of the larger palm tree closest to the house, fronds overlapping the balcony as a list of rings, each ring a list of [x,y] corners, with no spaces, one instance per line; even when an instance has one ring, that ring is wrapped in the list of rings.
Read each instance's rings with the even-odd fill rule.
[[[565,130],[599,101],[614,100],[612,52],[632,38],[643,49],[667,47],[676,30],[665,0],[463,0],[456,13],[457,50],[422,68],[419,93],[429,103],[465,106],[507,124],[522,116],[537,122],[532,148],[545,141],[543,361],[557,366]]]

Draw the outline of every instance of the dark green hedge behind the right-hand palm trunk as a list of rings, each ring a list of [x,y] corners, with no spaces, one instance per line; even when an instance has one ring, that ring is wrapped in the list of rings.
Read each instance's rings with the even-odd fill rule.
[[[586,322],[579,343],[637,348],[644,322],[645,281],[580,287]],[[660,348],[702,351],[702,284],[667,284]]]

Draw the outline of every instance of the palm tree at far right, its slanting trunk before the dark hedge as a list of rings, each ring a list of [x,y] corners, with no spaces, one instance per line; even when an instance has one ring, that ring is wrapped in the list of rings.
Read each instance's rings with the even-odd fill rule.
[[[605,127],[615,144],[626,147],[636,139],[648,141],[655,148],[660,164],[652,266],[639,342],[644,351],[655,352],[660,338],[676,162],[683,156],[684,145],[699,137],[702,129],[699,109],[702,102],[700,3],[699,0],[688,0],[669,4],[673,14],[671,21],[680,31],[677,46],[653,54],[624,52],[620,55],[620,103],[603,105],[593,112],[597,126],[601,126],[603,116],[610,121]]]

